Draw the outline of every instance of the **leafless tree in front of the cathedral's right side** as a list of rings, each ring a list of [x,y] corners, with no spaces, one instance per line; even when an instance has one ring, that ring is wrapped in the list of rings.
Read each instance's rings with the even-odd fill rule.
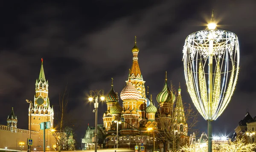
[[[175,101],[175,99],[178,99],[178,95],[172,85],[170,89],[171,92],[173,92],[171,100]],[[171,103],[169,106],[171,110],[167,110],[168,112],[166,112],[165,109],[160,109],[160,105],[158,105],[156,117],[158,129],[156,137],[163,142],[164,152],[166,150],[166,143],[172,144],[172,151],[189,143],[187,132],[196,132],[195,126],[198,122],[198,112],[195,112],[190,104],[188,104],[188,106],[183,104],[184,114],[181,121],[179,120],[180,118],[177,118],[177,112],[179,111],[175,109],[175,103]]]

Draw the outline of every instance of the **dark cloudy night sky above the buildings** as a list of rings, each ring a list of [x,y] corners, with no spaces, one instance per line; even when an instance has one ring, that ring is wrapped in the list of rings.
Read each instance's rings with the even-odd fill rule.
[[[17,127],[28,129],[26,99],[34,98],[43,57],[50,104],[58,113],[58,95],[67,84],[67,114],[79,123],[75,133],[80,144],[87,123],[94,126],[94,107],[87,100],[89,91],[104,89],[108,93],[111,77],[115,91],[122,91],[132,64],[135,35],[140,70],[154,102],[167,71],[176,89],[180,82],[183,103],[193,104],[186,91],[182,49],[187,35],[206,29],[212,9],[218,29],[239,37],[241,70],[237,87],[229,105],[213,123],[214,135],[233,134],[247,110],[256,116],[255,0],[2,2],[0,124],[6,125],[14,107]],[[99,123],[105,110],[106,104],[100,103]],[[201,115],[199,120],[200,131],[207,132],[207,121]]]

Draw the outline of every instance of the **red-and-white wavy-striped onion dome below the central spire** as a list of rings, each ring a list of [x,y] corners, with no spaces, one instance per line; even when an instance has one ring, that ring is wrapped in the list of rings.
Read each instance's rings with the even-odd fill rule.
[[[140,98],[140,92],[138,92],[137,89],[132,85],[131,79],[129,79],[127,85],[120,93],[120,98],[122,100],[125,100],[125,99],[138,100]]]

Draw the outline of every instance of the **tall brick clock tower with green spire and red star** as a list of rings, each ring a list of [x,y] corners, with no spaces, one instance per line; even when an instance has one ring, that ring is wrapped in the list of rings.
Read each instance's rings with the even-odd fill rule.
[[[35,82],[35,96],[34,96],[34,107],[31,113],[31,130],[39,132],[40,140],[39,146],[43,146],[43,130],[40,129],[40,123],[48,122],[51,123],[53,128],[53,108],[50,106],[48,97],[48,80],[44,75],[43,58],[41,59],[41,69],[39,77]],[[30,109],[29,109],[29,125],[30,125]],[[50,129],[46,130],[46,146],[52,146],[50,141],[51,136]]]

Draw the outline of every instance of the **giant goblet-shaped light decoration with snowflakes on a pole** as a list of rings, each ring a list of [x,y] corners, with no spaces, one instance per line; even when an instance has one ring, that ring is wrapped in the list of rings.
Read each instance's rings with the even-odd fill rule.
[[[212,152],[212,126],[235,90],[239,72],[236,34],[217,30],[212,11],[208,29],[190,34],[183,47],[186,85],[198,112],[208,121],[208,152]]]

